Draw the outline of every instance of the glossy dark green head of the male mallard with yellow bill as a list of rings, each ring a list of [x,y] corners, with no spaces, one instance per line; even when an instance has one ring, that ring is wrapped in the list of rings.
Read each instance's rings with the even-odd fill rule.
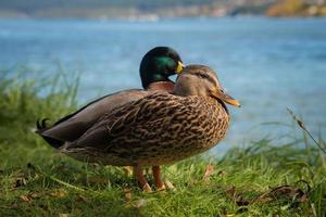
[[[145,54],[140,63],[140,78],[146,89],[152,82],[171,81],[168,76],[184,69],[179,54],[168,47],[156,47]]]

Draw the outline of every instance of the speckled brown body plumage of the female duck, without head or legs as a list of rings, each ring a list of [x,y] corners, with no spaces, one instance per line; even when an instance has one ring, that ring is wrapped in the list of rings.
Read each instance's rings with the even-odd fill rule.
[[[218,143],[228,125],[215,99],[153,93],[106,114],[65,151],[116,166],[171,164]]]

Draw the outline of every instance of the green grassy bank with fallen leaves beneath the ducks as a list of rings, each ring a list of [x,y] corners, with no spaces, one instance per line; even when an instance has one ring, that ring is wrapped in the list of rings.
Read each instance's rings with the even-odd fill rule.
[[[122,168],[57,153],[32,129],[75,108],[76,87],[61,79],[1,77],[0,216],[325,216],[326,158],[300,138],[164,167],[175,190],[153,193]]]

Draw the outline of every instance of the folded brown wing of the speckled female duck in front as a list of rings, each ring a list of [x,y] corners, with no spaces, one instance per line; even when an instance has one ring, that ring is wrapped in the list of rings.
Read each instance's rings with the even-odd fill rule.
[[[173,119],[188,114],[183,107],[191,111],[199,105],[188,105],[189,102],[170,93],[152,93],[105,114],[78,140],[66,143],[64,150],[91,148],[108,152],[117,146],[128,150],[130,143],[146,143],[158,133],[170,133]]]

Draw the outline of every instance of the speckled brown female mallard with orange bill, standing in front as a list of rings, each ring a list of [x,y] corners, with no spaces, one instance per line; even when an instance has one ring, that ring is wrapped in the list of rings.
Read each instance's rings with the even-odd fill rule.
[[[160,165],[204,152],[225,137],[230,117],[224,102],[240,106],[211,68],[190,65],[172,93],[154,92],[106,113],[60,150],[80,161],[134,166],[145,190],[142,167],[152,166],[156,188],[164,189]]]

